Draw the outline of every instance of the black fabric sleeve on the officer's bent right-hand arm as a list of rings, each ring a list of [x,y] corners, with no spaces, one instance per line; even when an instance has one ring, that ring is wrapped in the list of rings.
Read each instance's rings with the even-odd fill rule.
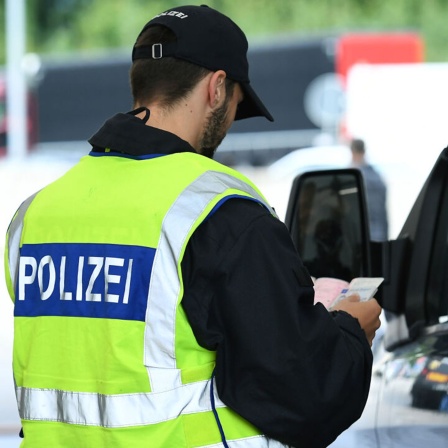
[[[313,305],[281,221],[255,202],[227,201],[193,235],[182,271],[182,304],[198,343],[217,352],[227,406],[307,448],[326,447],[360,417],[370,346],[356,319]]]

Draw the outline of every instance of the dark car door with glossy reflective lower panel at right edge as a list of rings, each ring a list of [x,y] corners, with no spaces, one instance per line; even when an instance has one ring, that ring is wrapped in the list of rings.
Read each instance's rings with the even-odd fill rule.
[[[389,263],[386,295],[393,291],[403,297],[391,300],[397,313],[386,313],[389,351],[378,390],[378,446],[447,447],[448,149],[436,162],[398,240],[407,241],[407,249]],[[390,294],[385,306],[388,298]]]

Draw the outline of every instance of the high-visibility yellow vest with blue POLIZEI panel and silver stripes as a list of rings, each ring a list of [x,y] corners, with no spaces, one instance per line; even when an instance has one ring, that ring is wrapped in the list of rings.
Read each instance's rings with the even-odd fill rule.
[[[22,446],[222,446],[222,430],[232,447],[281,446],[219,399],[215,352],[179,306],[195,229],[230,197],[266,200],[198,154],[93,154],[8,229]]]

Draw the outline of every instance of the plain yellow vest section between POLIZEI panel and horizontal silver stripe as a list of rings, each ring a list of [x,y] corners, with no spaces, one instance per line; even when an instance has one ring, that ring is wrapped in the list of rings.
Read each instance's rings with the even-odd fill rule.
[[[143,347],[136,341],[143,339],[143,332],[143,322],[16,317],[14,378],[32,388],[150,392],[147,375],[139,374]],[[54,335],[56,343],[49,340]]]

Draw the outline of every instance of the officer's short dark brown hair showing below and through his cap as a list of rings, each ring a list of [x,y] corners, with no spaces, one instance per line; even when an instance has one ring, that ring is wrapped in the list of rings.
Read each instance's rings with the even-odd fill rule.
[[[176,40],[175,34],[163,25],[148,27],[136,47],[152,46]],[[134,104],[143,105],[157,99],[163,107],[171,107],[185,98],[210,70],[174,57],[137,59],[130,71]],[[235,82],[226,78],[226,93],[233,92]]]

